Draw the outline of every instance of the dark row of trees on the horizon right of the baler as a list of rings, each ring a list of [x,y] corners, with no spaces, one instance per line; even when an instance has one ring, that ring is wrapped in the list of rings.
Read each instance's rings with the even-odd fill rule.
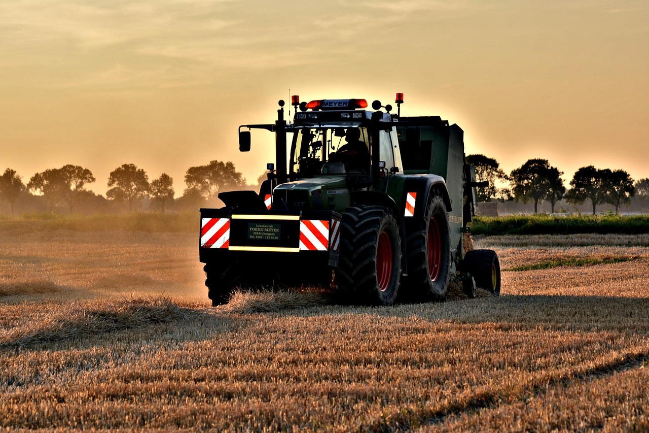
[[[467,161],[475,166],[476,180],[487,181],[489,186],[476,189],[478,202],[493,200],[515,200],[534,203],[534,213],[538,213],[539,203],[550,203],[552,213],[559,200],[572,204],[589,201],[593,215],[598,205],[608,203],[619,213],[622,205],[628,205],[636,193],[649,196],[649,179],[635,182],[624,170],[595,168],[592,165],[577,170],[570,180],[570,189],[563,183],[563,172],[551,166],[547,159],[528,159],[519,168],[506,174],[498,161],[485,155],[469,155]],[[496,187],[496,183],[509,185]]]

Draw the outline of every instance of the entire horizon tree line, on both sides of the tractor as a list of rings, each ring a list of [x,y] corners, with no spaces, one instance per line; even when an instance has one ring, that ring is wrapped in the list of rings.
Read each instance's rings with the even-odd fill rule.
[[[538,213],[539,203],[546,201],[554,213],[559,200],[574,204],[589,201],[594,214],[596,207],[603,203],[613,205],[618,213],[622,205],[630,203],[634,194],[649,198],[649,179],[634,183],[624,170],[598,169],[592,165],[582,167],[572,176],[567,190],[561,178],[563,172],[546,159],[529,159],[509,174],[500,168],[498,161],[485,155],[469,155],[467,161],[475,166],[476,180],[488,183],[487,187],[477,189],[478,202],[532,202],[534,213]],[[265,173],[257,180],[257,185],[263,179]],[[110,172],[105,198],[86,189],[95,181],[88,168],[73,164],[36,173],[26,184],[16,170],[7,168],[0,176],[0,201],[8,203],[12,215],[21,197],[31,199],[32,205],[27,206],[31,208],[38,207],[34,201],[45,202],[50,212],[67,207],[69,213],[73,213],[84,203],[92,203],[93,211],[133,211],[141,209],[143,202],[149,203],[150,209],[164,212],[170,204],[175,209],[197,209],[214,202],[219,191],[246,187],[245,178],[232,162],[217,160],[188,168],[184,176],[187,187],[179,198],[175,198],[171,176],[162,173],[149,181],[146,172],[135,164],[122,164]],[[498,187],[498,183],[508,186]]]

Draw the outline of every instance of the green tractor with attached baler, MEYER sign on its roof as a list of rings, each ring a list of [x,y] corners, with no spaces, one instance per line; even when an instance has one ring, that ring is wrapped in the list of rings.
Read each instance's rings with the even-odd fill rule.
[[[400,116],[365,99],[300,103],[292,122],[279,101],[275,163],[259,192],[221,192],[221,209],[201,209],[200,260],[212,304],[237,286],[333,284],[366,305],[444,300],[450,276],[476,296],[500,293],[492,250],[468,250],[474,169],[463,131],[439,116]],[[470,242],[468,242],[470,244]]]

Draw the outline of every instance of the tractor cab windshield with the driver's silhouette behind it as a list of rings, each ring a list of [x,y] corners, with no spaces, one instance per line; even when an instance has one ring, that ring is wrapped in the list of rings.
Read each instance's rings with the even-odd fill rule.
[[[326,162],[343,163],[345,172],[369,172],[369,133],[366,127],[300,128],[291,143],[291,174],[311,177]]]

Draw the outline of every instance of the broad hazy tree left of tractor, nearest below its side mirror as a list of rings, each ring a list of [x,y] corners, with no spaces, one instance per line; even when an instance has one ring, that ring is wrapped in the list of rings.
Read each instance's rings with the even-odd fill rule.
[[[245,187],[245,179],[230,161],[210,161],[207,165],[190,167],[185,174],[187,189],[195,190],[206,200],[214,200],[223,190]]]

